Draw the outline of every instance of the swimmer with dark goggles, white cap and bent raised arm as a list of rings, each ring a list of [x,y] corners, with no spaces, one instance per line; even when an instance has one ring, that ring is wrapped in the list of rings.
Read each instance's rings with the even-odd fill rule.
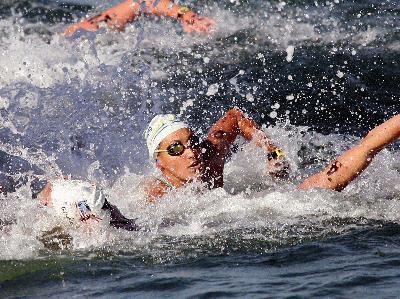
[[[155,161],[162,176],[147,183],[150,202],[193,180],[200,180],[210,188],[222,187],[226,158],[238,136],[254,141],[267,153],[266,169],[275,178],[289,174],[289,166],[282,149],[239,109],[230,109],[200,141],[188,125],[172,114],[153,118],[145,131],[150,159]]]

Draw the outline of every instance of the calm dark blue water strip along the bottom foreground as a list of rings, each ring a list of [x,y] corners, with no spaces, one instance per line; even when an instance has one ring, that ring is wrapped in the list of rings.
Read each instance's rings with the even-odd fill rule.
[[[395,297],[400,228],[384,224],[255,254],[154,264],[129,255],[49,256],[1,264],[3,296]]]

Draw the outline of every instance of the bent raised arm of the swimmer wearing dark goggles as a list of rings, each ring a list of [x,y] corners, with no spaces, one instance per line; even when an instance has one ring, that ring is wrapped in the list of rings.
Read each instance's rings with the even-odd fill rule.
[[[273,153],[279,149],[254,120],[246,117],[237,108],[230,109],[211,127],[207,140],[219,152],[226,155],[238,136],[242,136],[248,141],[254,141],[257,146],[263,148],[267,153]],[[268,161],[268,164],[270,175],[284,177],[288,174],[289,167],[283,157],[272,159]]]

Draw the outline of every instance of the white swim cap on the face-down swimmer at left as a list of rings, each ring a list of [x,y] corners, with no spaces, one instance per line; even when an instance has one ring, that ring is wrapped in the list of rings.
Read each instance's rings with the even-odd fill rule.
[[[93,214],[103,218],[104,202],[103,192],[89,182],[63,179],[51,182],[51,206],[58,216],[79,220],[85,214]]]

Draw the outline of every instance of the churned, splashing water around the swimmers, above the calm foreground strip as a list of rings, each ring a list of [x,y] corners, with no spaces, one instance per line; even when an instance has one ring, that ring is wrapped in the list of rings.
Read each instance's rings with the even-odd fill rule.
[[[185,35],[170,20],[140,17],[122,33],[67,39],[52,13],[71,20],[83,6],[0,6],[0,151],[28,164],[9,174],[27,177],[24,184],[0,195],[0,260],[61,252],[180,263],[398,224],[396,145],[342,193],[296,189],[354,136],[400,112],[396,3],[372,2],[193,2],[216,20],[215,35]],[[47,17],[37,20],[35,9]],[[223,189],[194,183],[147,205],[142,184],[153,167],[142,132],[152,116],[176,113],[205,133],[232,106],[285,149],[290,180],[267,177],[265,154],[238,141]],[[29,185],[63,175],[96,182],[148,230],[58,219],[32,199]]]

